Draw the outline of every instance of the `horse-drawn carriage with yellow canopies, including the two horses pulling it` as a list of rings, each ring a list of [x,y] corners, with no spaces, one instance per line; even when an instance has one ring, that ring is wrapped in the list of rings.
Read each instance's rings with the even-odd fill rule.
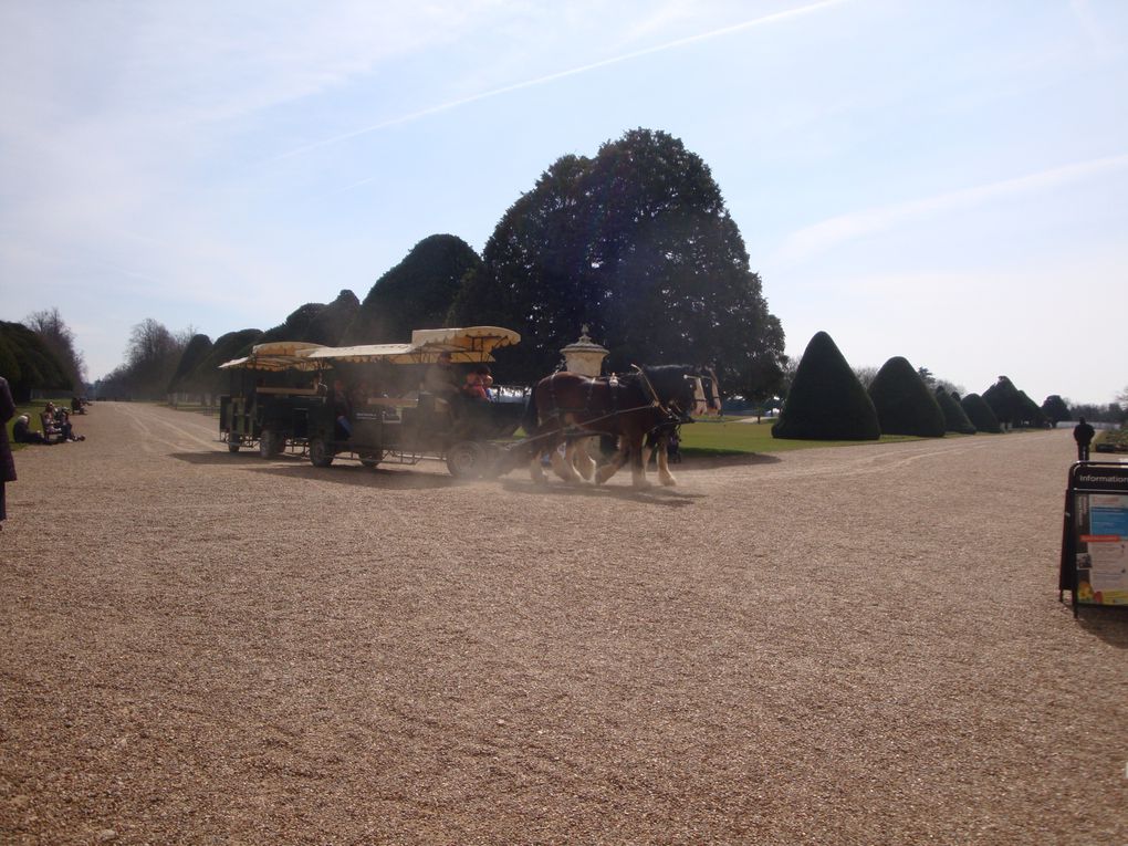
[[[606,482],[631,461],[638,485],[645,484],[649,439],[659,452],[659,478],[673,484],[666,466],[671,437],[695,413],[720,407],[712,371],[682,365],[596,379],[557,372],[531,393],[493,388],[490,400],[481,402],[457,388],[431,390],[421,373],[441,356],[455,364],[493,361],[494,350],[519,341],[509,329],[473,326],[416,329],[408,344],[259,344],[250,355],[221,365],[241,379],[221,398],[221,438],[232,452],[257,446],[268,458],[290,450],[318,467],[337,458],[369,467],[441,458],[453,476],[502,473],[528,460],[534,478],[541,481],[540,462],[550,456],[566,481]],[[526,439],[499,446],[519,425]],[[596,435],[617,444],[598,473],[584,448]]]

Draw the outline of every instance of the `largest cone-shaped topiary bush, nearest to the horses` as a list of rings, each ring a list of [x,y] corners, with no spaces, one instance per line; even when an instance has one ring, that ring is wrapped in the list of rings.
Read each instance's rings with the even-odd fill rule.
[[[873,400],[827,333],[817,333],[807,345],[772,437],[812,441],[881,437]]]

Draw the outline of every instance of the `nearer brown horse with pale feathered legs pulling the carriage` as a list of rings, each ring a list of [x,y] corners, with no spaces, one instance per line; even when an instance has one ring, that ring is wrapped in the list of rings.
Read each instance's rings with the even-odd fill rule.
[[[571,452],[576,439],[608,435],[617,439],[618,451],[596,473],[596,482],[606,482],[629,459],[635,486],[646,485],[643,441],[663,426],[690,420],[693,377],[693,369],[680,364],[638,368],[623,377],[599,379],[571,372],[545,377],[532,389],[523,423],[530,435],[532,478],[544,481],[539,459],[561,443],[569,443]],[[579,482],[571,458],[569,455],[555,466],[565,481]]]

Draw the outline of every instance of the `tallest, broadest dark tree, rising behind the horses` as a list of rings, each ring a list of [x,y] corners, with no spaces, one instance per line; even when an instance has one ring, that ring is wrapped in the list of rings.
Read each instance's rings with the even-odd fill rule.
[[[525,337],[535,379],[588,324],[608,367],[715,363],[730,393],[770,394],[783,329],[708,167],[664,132],[634,130],[565,156],[502,218],[452,308]]]

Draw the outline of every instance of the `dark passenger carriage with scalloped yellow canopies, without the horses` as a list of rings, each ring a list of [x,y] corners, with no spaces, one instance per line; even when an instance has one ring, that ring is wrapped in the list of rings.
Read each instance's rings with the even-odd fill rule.
[[[488,399],[432,391],[425,370],[440,358],[491,362],[494,350],[519,341],[509,329],[473,326],[417,329],[407,344],[261,344],[221,365],[238,385],[221,398],[220,435],[232,452],[291,451],[318,467],[440,458],[453,476],[481,476],[497,468],[496,443],[520,424],[526,391],[494,387]]]

